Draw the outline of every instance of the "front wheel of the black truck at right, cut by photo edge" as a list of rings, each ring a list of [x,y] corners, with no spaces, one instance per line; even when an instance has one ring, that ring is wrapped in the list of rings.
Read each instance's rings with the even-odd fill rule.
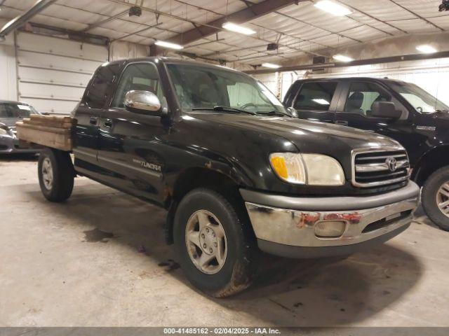
[[[438,169],[425,181],[422,207],[431,221],[449,231],[449,166]]]

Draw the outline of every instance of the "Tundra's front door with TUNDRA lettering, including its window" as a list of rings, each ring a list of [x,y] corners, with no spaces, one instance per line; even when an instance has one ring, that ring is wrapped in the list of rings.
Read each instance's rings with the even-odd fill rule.
[[[166,105],[159,72],[152,62],[130,63],[123,70],[109,109],[100,118],[98,165],[105,183],[127,193],[159,202],[163,183],[162,139],[168,133],[160,116],[125,109],[130,90],[156,94]]]

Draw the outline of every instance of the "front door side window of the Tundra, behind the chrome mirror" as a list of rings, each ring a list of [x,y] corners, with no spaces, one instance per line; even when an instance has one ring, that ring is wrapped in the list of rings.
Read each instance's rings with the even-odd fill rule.
[[[126,66],[111,106],[124,107],[123,103],[125,102],[126,93],[131,90],[153,92],[163,102],[164,98],[159,73],[154,64],[136,63]]]

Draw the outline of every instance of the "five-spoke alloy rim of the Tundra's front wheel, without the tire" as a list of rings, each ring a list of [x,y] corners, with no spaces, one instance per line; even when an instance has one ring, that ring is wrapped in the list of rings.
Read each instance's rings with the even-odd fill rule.
[[[190,216],[185,230],[185,244],[190,260],[201,272],[215,274],[225,265],[225,230],[210,211],[198,210]]]

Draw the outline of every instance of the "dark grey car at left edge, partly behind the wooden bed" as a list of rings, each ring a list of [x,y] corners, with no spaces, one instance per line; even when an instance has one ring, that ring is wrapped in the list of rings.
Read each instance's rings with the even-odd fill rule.
[[[0,100],[0,154],[38,153],[35,149],[19,147],[15,123],[30,114],[41,114],[33,106],[23,102]]]

